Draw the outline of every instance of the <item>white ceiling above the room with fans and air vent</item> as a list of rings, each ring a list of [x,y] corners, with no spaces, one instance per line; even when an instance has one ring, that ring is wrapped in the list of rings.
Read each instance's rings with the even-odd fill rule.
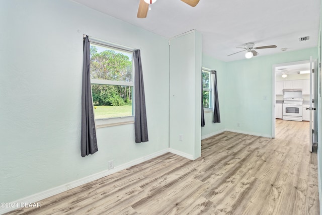
[[[147,18],[136,18],[139,0],[73,0],[166,38],[192,29],[203,35],[203,52],[223,61],[245,59],[235,47],[254,42],[259,56],[316,47],[320,0],[200,0],[192,8],[180,0],[157,0]],[[309,40],[299,42],[299,37]],[[256,56],[256,57],[259,57]]]

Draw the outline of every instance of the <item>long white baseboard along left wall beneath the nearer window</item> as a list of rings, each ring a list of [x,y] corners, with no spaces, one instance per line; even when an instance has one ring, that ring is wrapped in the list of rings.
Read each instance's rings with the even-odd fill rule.
[[[25,203],[25,202],[34,203],[34,202],[40,201],[42,199],[48,198],[50,196],[56,195],[58,193],[70,190],[72,188],[84,185],[84,184],[89,183],[91,181],[95,181],[97,179],[100,179],[100,178],[103,178],[105,176],[111,175],[111,174],[116,173],[118,171],[127,169],[129,167],[132,167],[134,165],[140,164],[140,163],[142,163],[144,161],[148,161],[148,160],[150,160],[152,158],[155,158],[157,156],[166,154],[168,152],[169,152],[169,148],[161,150],[161,151],[158,151],[156,153],[152,153],[152,154],[150,154],[148,156],[144,156],[142,158],[135,159],[135,160],[130,161],[128,163],[119,165],[119,166],[117,166],[117,167],[115,167],[113,169],[104,170],[102,172],[99,172],[99,173],[96,173],[96,174],[93,174],[93,175],[90,175],[90,176],[87,176],[87,177],[84,177],[84,178],[81,178],[81,179],[78,179],[78,180],[63,184],[63,185],[60,185],[60,186],[57,186],[57,187],[54,187],[54,188],[51,188],[51,189],[48,189],[48,190],[45,190],[45,191],[30,195],[30,196],[24,197],[24,198],[21,198],[21,199],[18,199],[16,201],[12,201],[12,202],[15,202],[19,207],[20,207],[20,205],[23,205],[22,203]],[[9,212],[9,211],[18,209],[19,207],[14,207],[14,208],[12,208],[12,207],[11,208],[0,207],[0,214],[3,214],[3,213],[6,213],[6,212]]]

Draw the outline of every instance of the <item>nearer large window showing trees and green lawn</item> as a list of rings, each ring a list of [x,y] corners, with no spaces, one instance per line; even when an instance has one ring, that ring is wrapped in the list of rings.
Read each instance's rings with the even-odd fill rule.
[[[95,119],[133,116],[133,51],[91,41]]]

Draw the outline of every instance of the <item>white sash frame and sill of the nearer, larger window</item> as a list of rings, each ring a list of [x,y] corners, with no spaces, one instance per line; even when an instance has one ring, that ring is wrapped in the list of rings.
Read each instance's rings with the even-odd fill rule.
[[[91,84],[99,85],[117,85],[117,86],[131,86],[132,90],[132,116],[123,116],[123,117],[113,117],[113,118],[101,118],[95,119],[96,128],[124,125],[124,124],[134,124],[134,49],[128,48],[121,45],[116,45],[108,43],[96,38],[89,38],[90,45],[99,45],[104,46],[108,49],[116,49],[120,51],[132,52],[132,82],[121,82],[121,81],[111,81],[111,80],[102,80],[102,79],[91,79]],[[92,95],[93,101],[93,95]],[[94,104],[93,104],[94,106]],[[93,107],[94,110],[94,107]],[[95,113],[94,113],[95,115]]]

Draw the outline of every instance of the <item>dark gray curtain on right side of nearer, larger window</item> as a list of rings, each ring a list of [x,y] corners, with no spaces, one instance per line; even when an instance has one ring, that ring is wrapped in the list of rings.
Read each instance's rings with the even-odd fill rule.
[[[135,116],[134,116],[134,127],[135,127],[135,142],[146,142],[149,140],[147,134],[147,122],[146,122],[146,110],[145,110],[145,95],[144,95],[144,84],[141,64],[140,50],[134,51],[134,69],[135,69]]]

